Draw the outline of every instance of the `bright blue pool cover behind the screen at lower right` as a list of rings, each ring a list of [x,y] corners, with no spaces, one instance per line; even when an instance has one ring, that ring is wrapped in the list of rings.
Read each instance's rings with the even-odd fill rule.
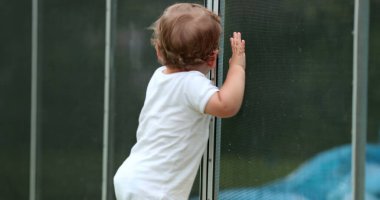
[[[380,145],[366,148],[365,199],[380,200]],[[220,200],[351,200],[351,146],[322,152],[262,187],[221,190]]]

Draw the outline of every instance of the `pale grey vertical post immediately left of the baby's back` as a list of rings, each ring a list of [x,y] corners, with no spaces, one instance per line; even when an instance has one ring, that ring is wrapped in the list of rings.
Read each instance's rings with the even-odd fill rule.
[[[105,58],[104,58],[104,110],[103,110],[103,163],[102,163],[102,200],[110,196],[110,141],[112,139],[112,103],[113,89],[112,74],[114,65],[114,32],[116,20],[116,0],[106,0],[106,24],[105,24]]]

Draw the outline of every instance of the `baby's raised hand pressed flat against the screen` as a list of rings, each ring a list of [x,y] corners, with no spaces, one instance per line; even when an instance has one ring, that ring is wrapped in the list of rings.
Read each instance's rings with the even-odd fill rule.
[[[245,41],[241,39],[240,32],[234,32],[230,38],[232,56],[230,58],[230,66],[240,65],[245,69]]]

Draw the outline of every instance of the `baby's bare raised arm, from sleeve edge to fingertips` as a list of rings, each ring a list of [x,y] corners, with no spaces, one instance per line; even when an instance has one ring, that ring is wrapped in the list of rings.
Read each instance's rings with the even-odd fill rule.
[[[245,85],[245,41],[240,33],[230,38],[232,57],[226,81],[208,101],[205,113],[217,117],[232,117],[239,112]]]

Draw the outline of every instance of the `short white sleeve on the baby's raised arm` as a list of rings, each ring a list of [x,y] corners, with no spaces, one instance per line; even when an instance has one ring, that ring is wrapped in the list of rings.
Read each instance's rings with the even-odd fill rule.
[[[211,96],[219,91],[205,75],[193,73],[187,82],[186,98],[190,105],[200,113],[204,113],[205,107]]]

